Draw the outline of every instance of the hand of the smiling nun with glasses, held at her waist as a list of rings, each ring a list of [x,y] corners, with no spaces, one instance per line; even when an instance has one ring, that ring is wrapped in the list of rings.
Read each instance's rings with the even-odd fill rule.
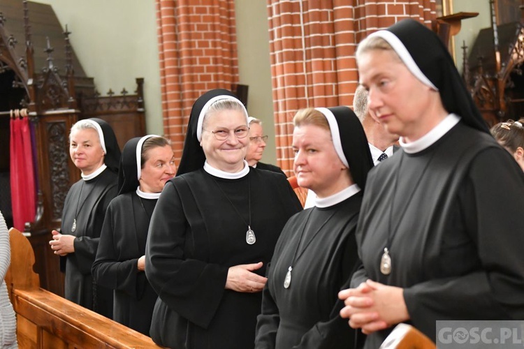
[[[262,267],[263,263],[243,264],[230,267],[226,280],[226,290],[237,292],[261,292],[268,278],[255,274],[253,271]]]

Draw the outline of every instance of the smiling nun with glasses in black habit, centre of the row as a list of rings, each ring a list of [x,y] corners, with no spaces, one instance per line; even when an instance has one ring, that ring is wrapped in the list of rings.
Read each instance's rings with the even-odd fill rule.
[[[302,209],[282,174],[250,168],[247,112],[230,91],[194,103],[177,177],[154,209],[145,272],[150,335],[170,348],[254,347],[265,266]]]

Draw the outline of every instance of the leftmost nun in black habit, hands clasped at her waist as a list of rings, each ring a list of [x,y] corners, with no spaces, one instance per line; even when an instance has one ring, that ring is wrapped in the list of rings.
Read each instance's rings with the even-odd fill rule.
[[[112,291],[94,283],[91,267],[105,209],[117,195],[120,149],[111,126],[96,118],[75,123],[69,140],[71,160],[82,179],[69,189],[61,231],[52,231],[49,244],[66,273],[66,299],[112,318]]]

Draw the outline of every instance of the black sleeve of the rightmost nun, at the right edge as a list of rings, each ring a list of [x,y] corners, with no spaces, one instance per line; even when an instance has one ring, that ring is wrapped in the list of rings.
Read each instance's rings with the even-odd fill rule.
[[[483,268],[404,290],[412,322],[423,332],[449,318],[524,318],[524,174],[504,153],[490,148],[476,156],[456,203]]]

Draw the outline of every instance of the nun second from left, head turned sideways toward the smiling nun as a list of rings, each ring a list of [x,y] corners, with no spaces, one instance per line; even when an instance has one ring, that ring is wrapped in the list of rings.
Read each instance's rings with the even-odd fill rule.
[[[105,214],[92,273],[114,290],[113,320],[147,336],[157,293],[145,277],[145,242],[154,206],[175,175],[173,149],[166,138],[129,140],[122,151],[118,196]]]

